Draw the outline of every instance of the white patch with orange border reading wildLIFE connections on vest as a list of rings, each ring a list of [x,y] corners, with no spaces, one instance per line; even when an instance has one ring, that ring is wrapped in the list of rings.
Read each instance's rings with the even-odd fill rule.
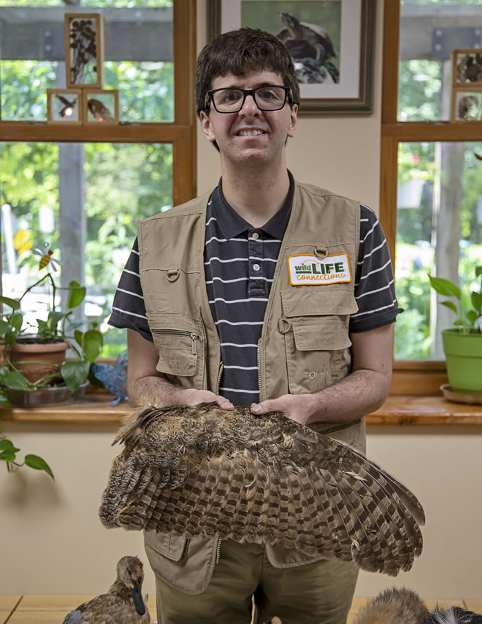
[[[351,282],[350,261],[346,253],[335,256],[290,256],[289,283],[293,286],[322,286]]]

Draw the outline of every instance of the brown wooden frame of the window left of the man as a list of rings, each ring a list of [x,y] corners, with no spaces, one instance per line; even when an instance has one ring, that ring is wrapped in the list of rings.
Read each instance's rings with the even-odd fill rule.
[[[52,125],[1,121],[0,141],[38,143],[169,143],[173,205],[196,196],[196,0],[173,2],[174,122],[138,125]]]

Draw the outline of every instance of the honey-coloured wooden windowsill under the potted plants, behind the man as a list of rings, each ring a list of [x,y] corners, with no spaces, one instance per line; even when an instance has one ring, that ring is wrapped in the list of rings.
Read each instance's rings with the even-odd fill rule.
[[[50,407],[1,408],[0,419],[24,423],[121,424],[130,406],[125,401],[107,405],[114,397],[87,393],[87,399]],[[438,395],[390,395],[385,404],[366,417],[371,425],[481,425],[482,405],[454,403]]]

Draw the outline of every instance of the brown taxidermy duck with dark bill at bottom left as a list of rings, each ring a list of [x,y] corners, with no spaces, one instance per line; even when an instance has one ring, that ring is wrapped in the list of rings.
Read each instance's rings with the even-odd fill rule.
[[[107,594],[96,596],[71,611],[63,624],[149,624],[141,588],[143,564],[137,557],[123,557],[117,563],[117,578]]]

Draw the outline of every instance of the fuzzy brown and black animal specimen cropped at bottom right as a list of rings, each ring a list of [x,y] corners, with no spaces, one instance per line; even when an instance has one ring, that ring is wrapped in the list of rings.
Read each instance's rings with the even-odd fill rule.
[[[406,587],[381,592],[359,611],[353,624],[482,624],[482,615],[460,607],[431,613],[420,596]]]

